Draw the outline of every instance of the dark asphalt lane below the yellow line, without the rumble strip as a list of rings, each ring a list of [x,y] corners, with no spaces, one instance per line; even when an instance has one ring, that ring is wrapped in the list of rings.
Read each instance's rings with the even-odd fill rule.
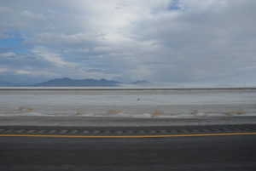
[[[256,170],[256,135],[0,137],[0,170]]]

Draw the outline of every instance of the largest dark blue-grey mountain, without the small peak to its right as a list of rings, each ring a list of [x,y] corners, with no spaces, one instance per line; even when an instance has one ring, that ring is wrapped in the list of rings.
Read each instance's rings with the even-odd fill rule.
[[[74,80],[68,77],[56,78],[44,83],[37,83],[35,87],[118,87],[120,82],[101,79]]]

